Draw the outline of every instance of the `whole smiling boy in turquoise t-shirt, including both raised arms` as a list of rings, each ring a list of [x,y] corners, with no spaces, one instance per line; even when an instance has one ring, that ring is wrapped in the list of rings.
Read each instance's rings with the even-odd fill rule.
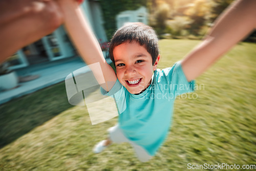
[[[101,152],[112,141],[130,142],[140,161],[150,160],[167,135],[176,95],[193,91],[193,80],[255,28],[255,7],[253,0],[234,3],[194,51],[162,71],[157,70],[160,55],[154,31],[140,24],[124,26],[110,46],[116,73],[103,58],[77,6],[70,3],[63,7],[75,9],[63,11],[70,11],[65,14],[65,23],[81,56],[88,65],[100,63],[106,82],[102,93],[114,94],[117,106],[121,106],[119,124],[109,129],[110,138],[98,143],[94,152]],[[97,71],[93,72],[100,79]]]

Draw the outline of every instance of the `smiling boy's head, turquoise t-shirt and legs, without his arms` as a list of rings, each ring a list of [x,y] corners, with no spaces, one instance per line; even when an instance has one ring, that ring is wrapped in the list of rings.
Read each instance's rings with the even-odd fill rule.
[[[130,142],[138,158],[147,161],[168,133],[175,97],[193,91],[194,83],[187,81],[180,62],[157,70],[158,38],[151,27],[143,24],[123,26],[114,34],[110,58],[116,67],[117,81],[109,92],[101,92],[114,94],[119,120],[109,129],[110,138],[98,143],[94,152],[101,152],[112,141]]]

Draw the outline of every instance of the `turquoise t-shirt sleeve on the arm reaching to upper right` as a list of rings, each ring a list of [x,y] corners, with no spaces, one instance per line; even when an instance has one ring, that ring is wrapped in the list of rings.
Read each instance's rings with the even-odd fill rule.
[[[195,80],[187,81],[182,70],[181,61],[176,62],[171,68],[163,69],[162,72],[168,83],[170,93],[173,93],[175,96],[195,90]]]

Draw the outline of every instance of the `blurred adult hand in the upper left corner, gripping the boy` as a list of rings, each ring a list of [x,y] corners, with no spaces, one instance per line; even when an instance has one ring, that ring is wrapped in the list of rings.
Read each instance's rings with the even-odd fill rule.
[[[81,4],[83,0],[70,0]],[[0,63],[63,23],[62,0],[0,1]]]

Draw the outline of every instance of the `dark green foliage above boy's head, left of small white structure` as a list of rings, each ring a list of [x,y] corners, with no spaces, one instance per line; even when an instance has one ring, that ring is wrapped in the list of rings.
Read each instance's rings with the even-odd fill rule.
[[[116,31],[116,15],[125,10],[136,10],[141,6],[147,6],[148,0],[100,0],[104,28],[108,39],[112,38]]]

